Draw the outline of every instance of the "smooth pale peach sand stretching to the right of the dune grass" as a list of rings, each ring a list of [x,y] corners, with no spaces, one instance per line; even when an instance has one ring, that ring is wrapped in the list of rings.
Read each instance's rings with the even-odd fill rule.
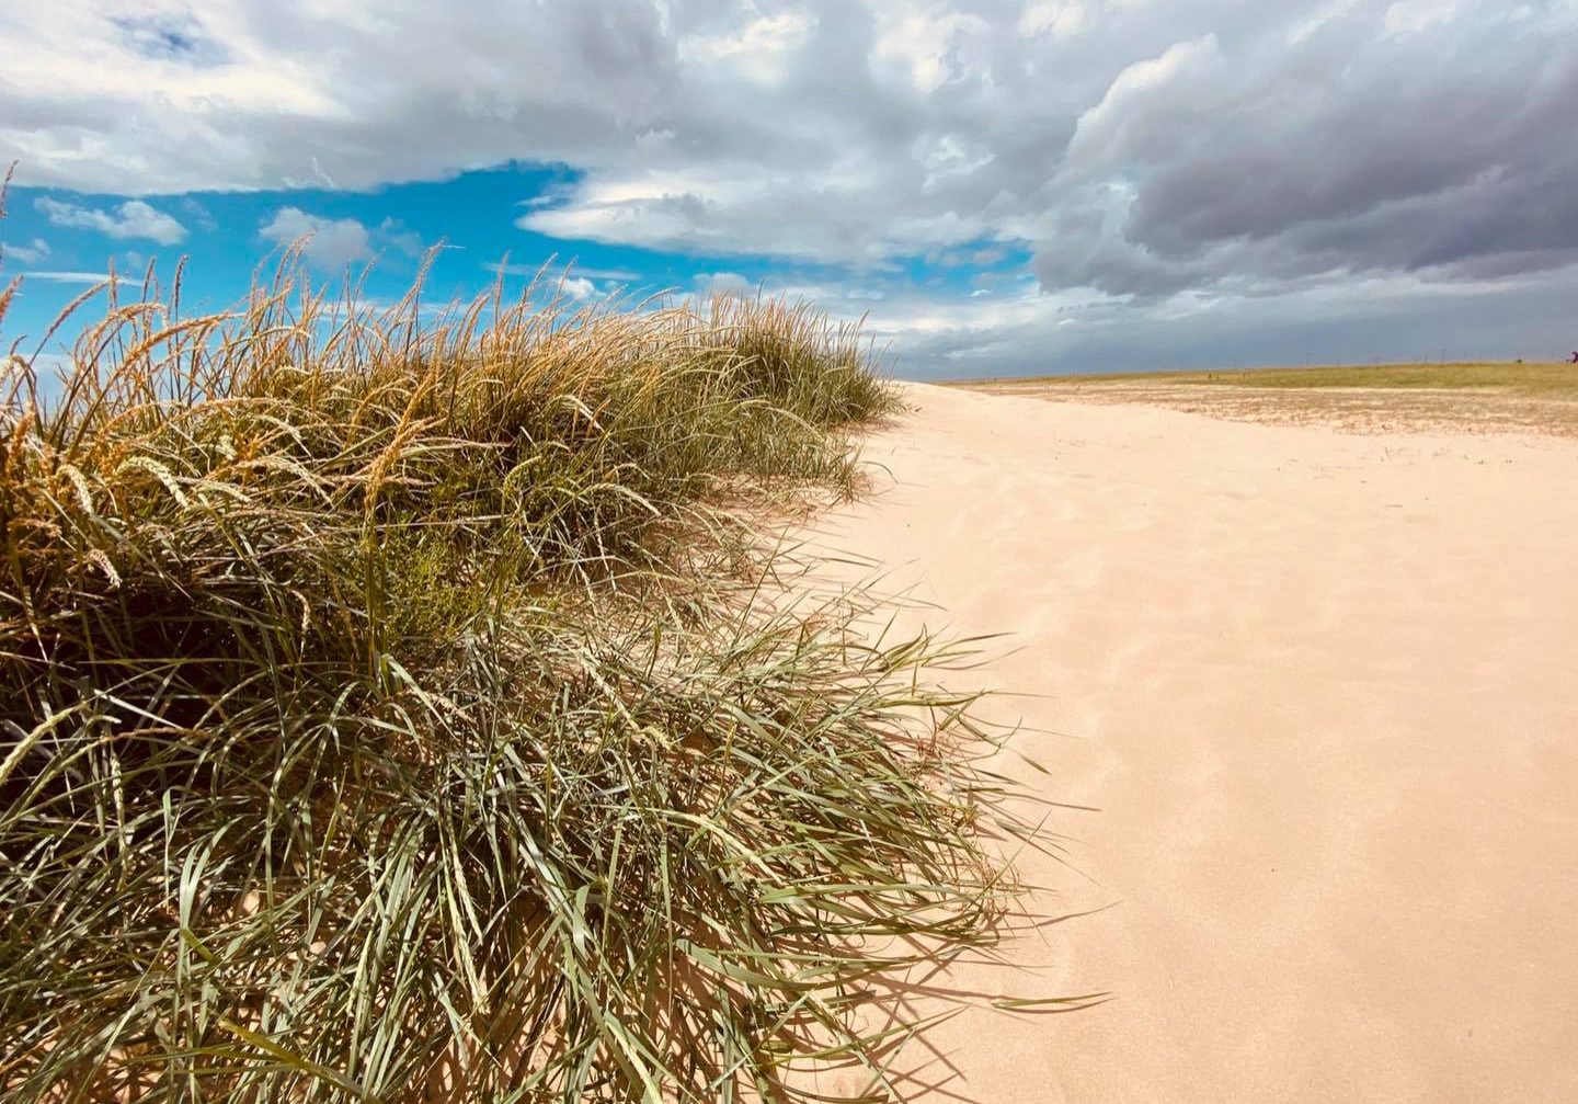
[[[1114,1000],[966,1012],[906,1098],[1578,1099],[1578,444],[911,401],[814,540],[1011,635],[952,682],[1041,695],[1004,768],[1101,812],[1024,873],[1112,905],[948,982]]]

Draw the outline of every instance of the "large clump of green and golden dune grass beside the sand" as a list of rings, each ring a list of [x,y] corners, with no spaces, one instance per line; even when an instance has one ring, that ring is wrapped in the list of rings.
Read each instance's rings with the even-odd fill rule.
[[[881,1085],[869,981],[993,941],[1019,824],[926,641],[759,600],[718,507],[852,485],[858,333],[99,294],[0,390],[6,1099]]]

